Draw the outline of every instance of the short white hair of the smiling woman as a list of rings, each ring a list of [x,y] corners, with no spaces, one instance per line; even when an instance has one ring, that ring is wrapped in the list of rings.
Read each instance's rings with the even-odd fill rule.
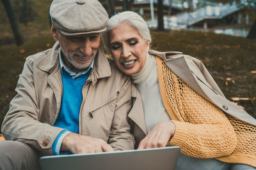
[[[151,36],[147,22],[145,22],[138,13],[133,11],[123,11],[113,15],[113,17],[109,19],[106,31],[102,32],[102,40],[107,48],[109,48],[109,31],[122,24],[122,22],[128,22],[131,24],[145,41],[151,43]]]

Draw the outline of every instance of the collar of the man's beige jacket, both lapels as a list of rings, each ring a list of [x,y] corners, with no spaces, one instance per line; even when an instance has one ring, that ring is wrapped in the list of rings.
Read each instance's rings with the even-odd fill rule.
[[[52,49],[44,55],[42,59],[39,60],[37,67],[42,71],[46,71],[48,73],[56,73],[56,71],[60,70],[60,60],[59,60],[59,50],[60,43],[56,41]],[[95,60],[94,66],[92,69],[92,73],[90,74],[88,81],[91,80],[93,85],[97,82],[98,78],[104,78],[111,75],[111,68],[109,66],[108,58],[104,54],[101,48],[99,48]]]

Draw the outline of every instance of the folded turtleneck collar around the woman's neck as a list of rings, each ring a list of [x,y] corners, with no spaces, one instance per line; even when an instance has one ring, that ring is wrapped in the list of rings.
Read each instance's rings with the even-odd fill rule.
[[[150,55],[147,53],[147,58],[145,61],[145,65],[143,69],[141,69],[140,73],[131,74],[131,78],[133,83],[138,84],[145,80],[147,80],[150,71],[152,70],[152,66],[154,66],[154,55]]]

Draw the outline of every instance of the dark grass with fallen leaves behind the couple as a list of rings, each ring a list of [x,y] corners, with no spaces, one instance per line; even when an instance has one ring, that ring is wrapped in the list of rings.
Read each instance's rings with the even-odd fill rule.
[[[159,51],[180,51],[202,60],[225,96],[256,96],[256,40],[195,31],[152,32],[152,48]],[[22,46],[0,46],[0,125],[8,111],[10,100],[24,61],[28,55],[52,46],[51,32],[31,37]],[[239,101],[250,115],[256,117],[254,100]]]

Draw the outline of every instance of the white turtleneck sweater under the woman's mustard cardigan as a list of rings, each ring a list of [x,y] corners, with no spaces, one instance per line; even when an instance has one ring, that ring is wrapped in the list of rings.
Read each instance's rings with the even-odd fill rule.
[[[156,58],[147,54],[143,69],[140,73],[132,74],[131,78],[141,95],[147,132],[157,124],[169,121],[170,117],[164,108],[159,90]]]

